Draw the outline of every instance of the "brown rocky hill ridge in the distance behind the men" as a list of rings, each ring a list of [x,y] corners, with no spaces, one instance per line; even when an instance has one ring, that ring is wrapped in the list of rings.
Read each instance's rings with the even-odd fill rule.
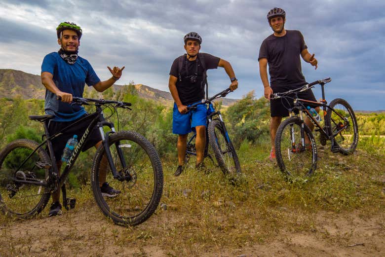
[[[121,90],[124,85],[113,85],[114,91]],[[135,89],[139,97],[151,99],[162,104],[172,104],[173,99],[169,92],[155,89],[143,84],[136,84]],[[44,99],[45,88],[41,84],[39,75],[22,71],[0,69],[0,98]],[[230,106],[236,99],[224,98],[223,106]]]

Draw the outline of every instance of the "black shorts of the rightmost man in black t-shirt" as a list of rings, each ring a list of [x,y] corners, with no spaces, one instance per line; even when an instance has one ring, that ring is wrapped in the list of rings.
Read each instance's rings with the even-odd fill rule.
[[[283,93],[292,89],[295,89],[298,87],[293,86],[271,86],[271,89],[273,90],[273,93]],[[292,95],[291,97],[294,97]],[[311,89],[298,93],[298,98],[302,98],[309,101],[317,101],[315,99],[315,96]],[[293,99],[290,98],[278,98],[274,100],[270,100],[270,116],[280,116],[280,117],[287,117],[289,116],[289,110],[290,108],[293,108],[294,102]],[[316,107],[315,105],[309,104],[310,107]]]

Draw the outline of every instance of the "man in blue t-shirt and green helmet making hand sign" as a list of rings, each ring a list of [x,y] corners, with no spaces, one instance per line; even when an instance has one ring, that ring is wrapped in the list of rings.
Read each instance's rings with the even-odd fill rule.
[[[124,69],[124,67],[121,69],[118,67],[113,69],[107,67],[112,77],[101,81],[89,62],[77,55],[82,35],[81,28],[75,23],[62,22],[57,27],[56,32],[60,50],[47,54],[41,64],[41,82],[46,88],[44,110],[46,114],[55,115],[48,125],[50,135],[57,133],[64,127],[74,123],[77,119],[87,115],[83,107],[71,105],[73,96],[83,96],[84,84],[93,86],[97,91],[103,92],[120,78]],[[59,97],[61,101],[57,100]],[[88,125],[89,123],[87,122],[74,125],[70,130],[52,141],[56,165],[59,171],[62,165],[61,155],[68,139],[74,134],[81,138]],[[101,134],[95,127],[90,133],[89,140],[85,142],[83,150],[92,146],[99,147],[101,143]],[[107,159],[102,161],[105,163],[103,167],[107,167]],[[105,182],[106,170],[102,171],[100,176],[101,181],[104,182],[100,184],[103,195],[114,197],[120,193],[120,191],[112,188]],[[49,216],[61,214],[62,206],[59,200],[60,189],[52,193],[52,205]]]

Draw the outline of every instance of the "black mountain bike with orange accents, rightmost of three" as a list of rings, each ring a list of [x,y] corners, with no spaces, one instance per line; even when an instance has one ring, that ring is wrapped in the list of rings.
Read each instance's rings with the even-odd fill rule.
[[[319,141],[322,146],[329,140],[331,151],[343,154],[350,154],[357,147],[358,126],[353,109],[341,98],[334,99],[327,105],[324,85],[330,81],[331,78],[320,79],[298,89],[275,93],[270,98],[282,99],[284,106],[285,99],[294,99],[294,107],[288,108],[290,117],[279,125],[275,136],[276,160],[281,172],[287,176],[310,176],[317,166],[317,147],[311,130],[304,122],[304,114],[314,123],[315,131],[320,133]],[[298,98],[299,92],[313,88],[316,84],[321,85],[321,102]],[[310,114],[307,109],[309,104],[322,107],[324,126]]]

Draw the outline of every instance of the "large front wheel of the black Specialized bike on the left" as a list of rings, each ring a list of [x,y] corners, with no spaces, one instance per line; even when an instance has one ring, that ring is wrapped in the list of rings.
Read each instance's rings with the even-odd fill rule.
[[[116,170],[123,179],[114,179],[106,150],[99,147],[91,175],[95,200],[115,223],[138,225],[151,217],[162,195],[163,171],[159,156],[146,138],[132,131],[111,134],[109,145]],[[102,191],[105,182],[115,191]]]

